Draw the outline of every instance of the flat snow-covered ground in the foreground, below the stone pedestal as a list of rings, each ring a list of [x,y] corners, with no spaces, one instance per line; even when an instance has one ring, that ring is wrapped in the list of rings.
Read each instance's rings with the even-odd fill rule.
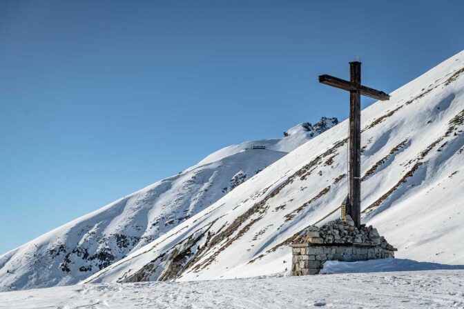
[[[464,308],[464,270],[100,283],[0,292],[0,308]]]

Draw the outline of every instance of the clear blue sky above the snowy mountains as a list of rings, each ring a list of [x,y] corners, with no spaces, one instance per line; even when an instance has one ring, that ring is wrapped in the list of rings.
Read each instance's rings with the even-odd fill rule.
[[[464,48],[464,1],[1,1],[0,253],[209,153],[392,91]],[[363,105],[372,103],[363,99]]]

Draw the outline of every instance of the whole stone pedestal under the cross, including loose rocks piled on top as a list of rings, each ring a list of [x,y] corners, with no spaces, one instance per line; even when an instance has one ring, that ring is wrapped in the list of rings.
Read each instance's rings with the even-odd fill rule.
[[[291,250],[292,276],[316,275],[325,261],[389,259],[396,251],[376,228],[363,224],[358,229],[349,215],[320,228],[306,228],[293,241]]]

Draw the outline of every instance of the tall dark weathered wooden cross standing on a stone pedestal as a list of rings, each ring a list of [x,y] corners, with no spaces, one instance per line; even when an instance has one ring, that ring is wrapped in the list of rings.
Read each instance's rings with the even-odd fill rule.
[[[349,81],[330,75],[320,75],[320,83],[349,91],[349,179],[347,214],[356,227],[361,225],[361,94],[386,101],[390,98],[383,91],[361,85],[361,63],[349,63]]]

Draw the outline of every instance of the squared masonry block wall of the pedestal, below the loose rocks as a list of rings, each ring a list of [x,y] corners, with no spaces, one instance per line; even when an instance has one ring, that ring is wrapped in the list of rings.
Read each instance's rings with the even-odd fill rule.
[[[325,261],[367,261],[394,257],[394,250],[380,246],[337,246],[294,243],[292,251],[292,276],[316,275]]]

